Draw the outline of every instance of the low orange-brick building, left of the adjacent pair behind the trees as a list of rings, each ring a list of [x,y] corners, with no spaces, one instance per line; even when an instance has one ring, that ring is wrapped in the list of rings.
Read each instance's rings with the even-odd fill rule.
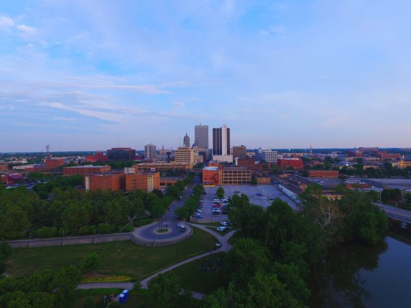
[[[124,172],[105,172],[88,174],[84,176],[86,190],[124,190]]]

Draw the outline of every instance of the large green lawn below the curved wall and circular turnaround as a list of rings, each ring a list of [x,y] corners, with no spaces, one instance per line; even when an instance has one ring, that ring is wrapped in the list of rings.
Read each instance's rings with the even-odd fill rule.
[[[216,238],[200,229],[186,241],[172,246],[145,248],[132,242],[56,246],[14,249],[8,259],[6,272],[23,276],[43,268],[79,266],[86,255],[98,253],[101,257],[101,274],[142,276],[187,259],[189,256],[208,251]]]

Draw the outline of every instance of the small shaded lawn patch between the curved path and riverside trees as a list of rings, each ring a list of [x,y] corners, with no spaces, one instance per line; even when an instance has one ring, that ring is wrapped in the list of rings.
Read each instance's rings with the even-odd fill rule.
[[[215,265],[216,259],[220,260],[220,266]],[[181,279],[183,287],[188,290],[210,294],[229,283],[229,275],[224,270],[224,260],[225,253],[216,253],[179,266],[166,274],[176,274]]]

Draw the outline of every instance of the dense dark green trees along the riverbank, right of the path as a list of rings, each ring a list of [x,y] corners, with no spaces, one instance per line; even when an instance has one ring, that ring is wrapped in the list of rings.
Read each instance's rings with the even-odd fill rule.
[[[306,307],[308,278],[329,247],[350,240],[376,244],[388,227],[371,194],[341,193],[329,201],[318,187],[309,188],[299,211],[279,198],[264,209],[234,195],[228,215],[240,231],[227,253],[231,281],[210,294],[205,307]]]

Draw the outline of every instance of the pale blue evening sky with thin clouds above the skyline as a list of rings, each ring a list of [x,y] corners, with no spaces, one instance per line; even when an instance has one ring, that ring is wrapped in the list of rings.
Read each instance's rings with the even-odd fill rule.
[[[0,0],[0,152],[410,147],[408,0]]]

